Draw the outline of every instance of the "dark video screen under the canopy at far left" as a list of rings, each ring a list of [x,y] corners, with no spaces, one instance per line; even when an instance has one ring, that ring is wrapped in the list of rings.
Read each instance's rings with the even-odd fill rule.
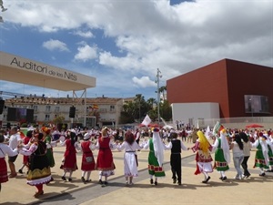
[[[7,108],[7,121],[25,121],[33,122],[34,120],[34,109],[27,108]]]

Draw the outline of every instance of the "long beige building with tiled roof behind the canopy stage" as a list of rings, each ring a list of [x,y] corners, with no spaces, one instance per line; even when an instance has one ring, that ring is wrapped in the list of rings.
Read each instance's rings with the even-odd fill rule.
[[[114,97],[96,97],[86,98],[73,97],[12,97],[5,99],[5,107],[1,115],[1,127],[7,125],[17,125],[24,122],[29,122],[27,111],[33,110],[32,122],[43,125],[45,123],[54,123],[54,119],[64,117],[64,124],[71,123],[84,125],[86,115],[86,127],[92,128],[95,126],[111,126],[118,125],[120,113],[123,108],[123,99]],[[85,106],[86,105],[86,106]],[[70,108],[75,107],[74,118],[69,118]],[[86,108],[86,111],[85,111]],[[17,110],[17,114],[8,113],[11,110]],[[27,110],[27,111],[25,111]],[[18,112],[22,112],[26,117],[19,118]],[[13,115],[12,117],[10,115]],[[9,120],[9,119],[13,120]]]

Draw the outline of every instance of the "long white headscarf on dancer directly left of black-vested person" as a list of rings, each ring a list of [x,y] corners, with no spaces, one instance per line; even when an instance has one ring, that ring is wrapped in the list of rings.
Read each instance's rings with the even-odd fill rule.
[[[153,144],[154,144],[155,156],[157,158],[159,167],[162,167],[164,162],[164,145],[159,136],[158,128],[154,128],[153,130]]]

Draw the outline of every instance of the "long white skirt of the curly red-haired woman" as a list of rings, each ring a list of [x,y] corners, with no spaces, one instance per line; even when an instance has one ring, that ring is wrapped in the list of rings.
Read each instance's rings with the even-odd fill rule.
[[[137,177],[135,152],[125,152],[124,154],[124,174],[126,177]]]

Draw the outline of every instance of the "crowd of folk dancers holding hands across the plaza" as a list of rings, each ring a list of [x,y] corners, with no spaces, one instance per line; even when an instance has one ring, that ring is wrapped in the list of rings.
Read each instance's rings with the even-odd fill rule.
[[[196,135],[194,141],[185,146],[181,132],[183,128],[164,130],[162,128],[142,129],[67,129],[58,132],[56,128],[42,127],[29,128],[25,138],[20,136],[19,129],[14,127],[6,133],[0,132],[0,191],[1,184],[8,178],[15,178],[15,160],[23,155],[23,163],[19,173],[26,170],[26,183],[35,186],[35,197],[44,194],[43,185],[53,179],[51,169],[56,166],[54,147],[66,147],[60,169],[63,169],[62,180],[72,181],[73,173],[78,169],[76,153],[82,153],[81,180],[84,183],[91,181],[91,172],[98,171],[98,183],[102,187],[108,184],[108,177],[115,175],[113,149],[124,150],[124,176],[126,185],[133,185],[133,179],[138,176],[137,151],[149,149],[147,156],[148,174],[150,184],[157,186],[158,178],[166,176],[163,168],[164,151],[170,150],[170,166],[173,183],[182,184],[181,179],[181,151],[192,150],[196,153],[197,168],[195,175],[203,174],[202,183],[207,183],[211,177],[209,173],[217,169],[219,179],[227,179],[226,171],[229,169],[232,153],[234,168],[237,171],[235,179],[248,179],[248,159],[250,150],[256,150],[253,168],[260,170],[259,176],[264,177],[266,172],[273,172],[273,136],[271,129],[251,133],[248,130],[227,129],[215,127],[213,131],[194,128],[191,133]],[[147,135],[144,133],[147,132]],[[55,135],[58,135],[56,138]],[[192,134],[191,134],[192,135]],[[147,136],[148,138],[145,138]],[[179,138],[181,137],[181,139]],[[189,137],[189,136],[187,136]],[[142,140],[140,140],[142,138]],[[54,141],[53,141],[54,140]],[[187,143],[188,145],[188,143]],[[97,150],[94,158],[93,151]],[[214,153],[214,159],[212,154]],[[10,174],[7,175],[5,156],[8,156]],[[213,163],[214,162],[214,163]]]

